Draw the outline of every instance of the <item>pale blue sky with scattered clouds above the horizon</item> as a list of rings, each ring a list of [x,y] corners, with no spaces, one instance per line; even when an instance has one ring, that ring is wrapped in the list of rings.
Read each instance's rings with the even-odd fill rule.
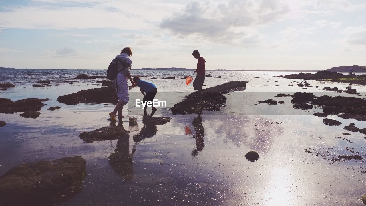
[[[0,0],[0,67],[325,70],[366,65],[365,0]]]

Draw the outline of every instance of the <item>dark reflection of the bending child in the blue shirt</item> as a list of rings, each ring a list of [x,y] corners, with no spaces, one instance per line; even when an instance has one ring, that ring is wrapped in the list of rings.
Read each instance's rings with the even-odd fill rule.
[[[158,131],[156,128],[156,124],[153,121],[153,115],[155,111],[150,115],[143,115],[142,116],[142,124],[143,127],[141,128],[141,131],[137,135],[133,135],[132,139],[134,139],[135,142],[140,142],[143,139],[153,137],[156,135],[156,132]]]

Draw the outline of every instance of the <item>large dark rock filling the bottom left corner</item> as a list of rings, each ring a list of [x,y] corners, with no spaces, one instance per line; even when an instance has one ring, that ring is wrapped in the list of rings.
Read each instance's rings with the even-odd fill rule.
[[[0,177],[1,205],[57,205],[81,191],[86,161],[80,156],[15,166]]]

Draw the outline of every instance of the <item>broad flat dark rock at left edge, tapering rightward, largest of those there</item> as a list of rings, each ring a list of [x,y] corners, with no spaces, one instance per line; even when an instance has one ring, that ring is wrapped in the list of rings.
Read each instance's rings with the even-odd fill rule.
[[[0,98],[0,113],[14,113],[26,111],[39,111],[44,104],[42,102],[48,99],[27,98],[18,101],[11,101],[6,98]]]

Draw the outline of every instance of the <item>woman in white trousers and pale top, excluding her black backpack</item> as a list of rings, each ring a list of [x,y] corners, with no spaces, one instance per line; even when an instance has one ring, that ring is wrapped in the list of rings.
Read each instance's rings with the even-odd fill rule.
[[[128,79],[130,79],[132,86],[135,87],[135,83],[131,77],[131,64],[132,60],[130,59],[132,56],[132,50],[130,47],[126,47],[121,50],[120,55],[116,56],[114,61],[112,60],[111,64],[117,65],[117,77],[113,81],[113,85],[116,88],[117,96],[118,96],[118,104],[115,109],[109,113],[111,116],[111,121],[116,121],[116,113],[118,112],[118,119],[122,119],[122,109],[123,105],[126,105],[128,102]]]

